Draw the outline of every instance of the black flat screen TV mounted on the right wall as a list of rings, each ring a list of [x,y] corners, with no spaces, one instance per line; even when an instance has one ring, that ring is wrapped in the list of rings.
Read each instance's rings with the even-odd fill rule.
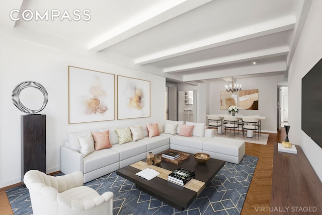
[[[322,148],[322,59],[302,78],[302,130]]]

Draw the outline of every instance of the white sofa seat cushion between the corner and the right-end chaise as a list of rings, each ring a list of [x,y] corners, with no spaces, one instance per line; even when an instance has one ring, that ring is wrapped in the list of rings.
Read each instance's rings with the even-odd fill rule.
[[[190,148],[202,150],[202,142],[206,141],[207,139],[209,139],[209,137],[200,137],[200,136],[187,137],[187,136],[176,135],[170,138],[170,143],[183,146],[183,147],[190,147]]]

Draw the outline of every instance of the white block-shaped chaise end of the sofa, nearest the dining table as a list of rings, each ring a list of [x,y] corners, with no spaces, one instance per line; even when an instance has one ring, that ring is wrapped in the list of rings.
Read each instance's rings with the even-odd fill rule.
[[[245,141],[215,136],[203,142],[202,152],[214,159],[239,164],[245,155]]]

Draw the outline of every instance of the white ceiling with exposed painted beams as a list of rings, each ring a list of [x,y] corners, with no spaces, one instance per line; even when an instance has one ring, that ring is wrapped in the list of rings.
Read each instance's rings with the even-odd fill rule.
[[[122,59],[147,72],[153,68],[173,82],[287,77],[311,1],[4,0],[0,26],[9,36],[109,62]],[[19,21],[10,19],[14,9]],[[60,20],[65,10],[76,18],[76,9],[81,20]],[[33,12],[31,21],[23,20],[25,10]],[[36,11],[47,10],[48,21],[35,19]],[[61,14],[52,21],[53,10]]]

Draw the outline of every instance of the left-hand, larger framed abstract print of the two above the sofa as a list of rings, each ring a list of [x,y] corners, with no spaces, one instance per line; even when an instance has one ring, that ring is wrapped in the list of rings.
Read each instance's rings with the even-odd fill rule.
[[[68,66],[68,123],[115,120],[115,75]]]

